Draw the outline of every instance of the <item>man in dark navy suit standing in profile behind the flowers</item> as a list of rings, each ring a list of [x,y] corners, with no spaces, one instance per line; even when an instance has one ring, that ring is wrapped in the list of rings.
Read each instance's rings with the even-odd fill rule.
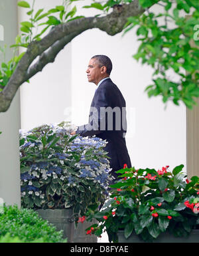
[[[89,122],[79,126],[71,134],[93,136],[107,140],[104,150],[108,152],[111,174],[117,178],[115,171],[124,164],[131,167],[125,134],[127,132],[126,104],[119,88],[111,81],[111,60],[105,55],[96,55],[90,59],[86,70],[88,82],[94,82],[98,87],[92,100]]]

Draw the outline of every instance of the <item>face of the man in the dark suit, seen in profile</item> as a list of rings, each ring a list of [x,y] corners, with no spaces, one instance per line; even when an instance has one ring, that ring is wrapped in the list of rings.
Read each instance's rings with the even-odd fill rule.
[[[88,82],[94,82],[95,84],[98,84],[98,82],[101,80],[101,77],[104,75],[103,67],[100,68],[96,59],[90,59],[86,73]]]

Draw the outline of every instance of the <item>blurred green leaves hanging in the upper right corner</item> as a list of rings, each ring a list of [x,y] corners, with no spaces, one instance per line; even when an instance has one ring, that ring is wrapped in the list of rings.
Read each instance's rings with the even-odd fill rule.
[[[137,28],[141,44],[133,57],[154,70],[153,84],[145,91],[149,97],[161,95],[163,102],[172,100],[178,105],[182,101],[192,108],[199,96],[199,41],[194,32],[198,25],[199,3],[177,0],[176,4],[163,0],[163,11],[155,14],[149,7],[159,1],[139,2],[147,12],[139,17],[129,17],[125,32]],[[186,15],[192,16],[188,18]],[[176,74],[174,79],[173,74]]]

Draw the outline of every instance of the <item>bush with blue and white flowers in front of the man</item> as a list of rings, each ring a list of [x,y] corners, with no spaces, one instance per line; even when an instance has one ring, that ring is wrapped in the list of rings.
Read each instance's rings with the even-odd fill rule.
[[[107,196],[109,160],[100,138],[71,136],[66,122],[20,134],[23,207],[72,207],[84,215]]]

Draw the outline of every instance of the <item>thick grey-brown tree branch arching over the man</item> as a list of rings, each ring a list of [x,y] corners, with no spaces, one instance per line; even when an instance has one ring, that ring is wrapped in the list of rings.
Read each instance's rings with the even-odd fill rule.
[[[141,15],[144,11],[145,9],[139,5],[139,0],[134,0],[128,5],[113,9],[112,13],[103,17],[86,17],[58,25],[42,40],[31,42],[7,86],[0,92],[0,112],[7,111],[19,86],[41,71],[46,64],[54,62],[56,55],[74,37],[94,28],[105,31],[108,35],[116,35],[123,30],[128,17]],[[38,61],[32,64],[38,56]]]

